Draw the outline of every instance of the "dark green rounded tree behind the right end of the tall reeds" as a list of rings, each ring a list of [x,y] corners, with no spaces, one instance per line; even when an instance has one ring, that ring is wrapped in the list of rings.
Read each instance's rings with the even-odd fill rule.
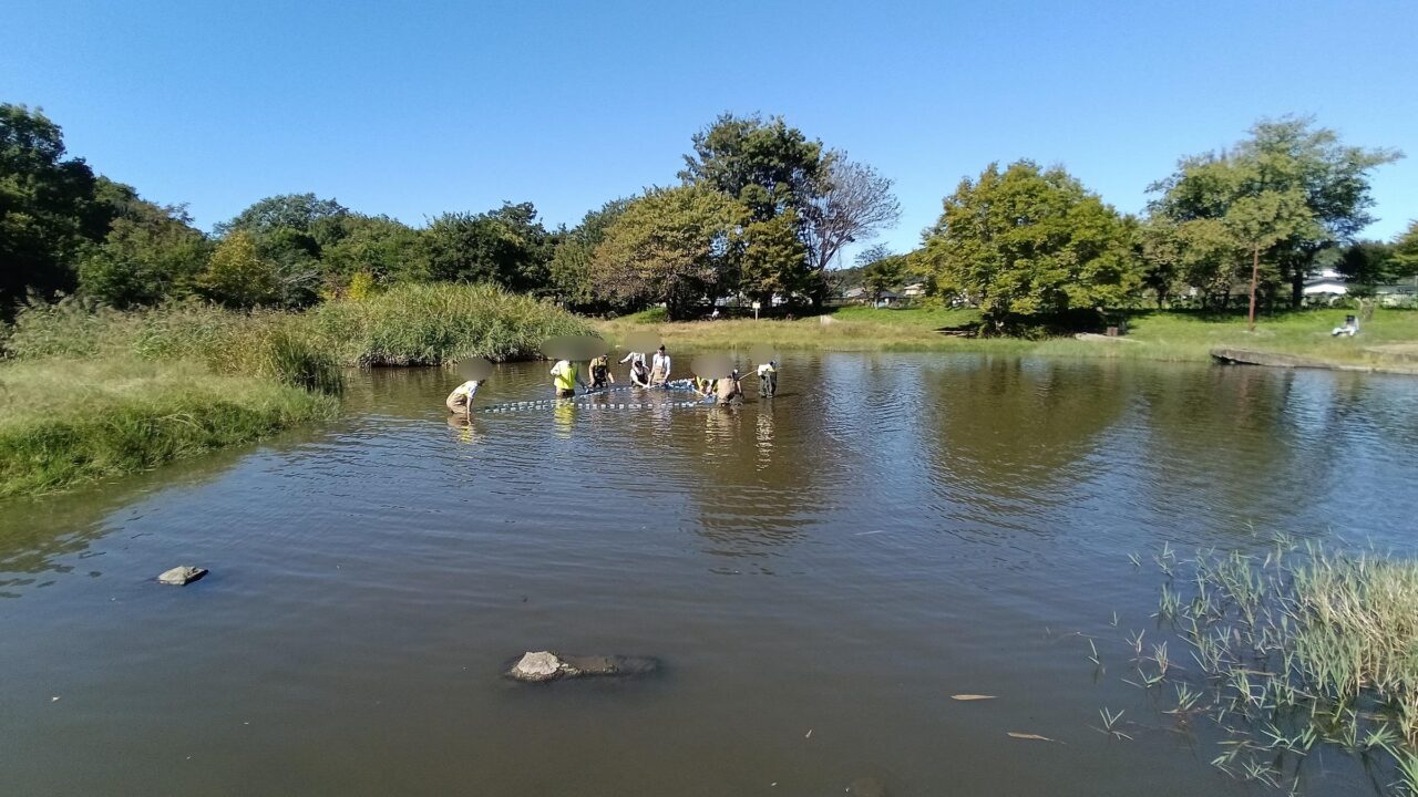
[[[532,203],[503,203],[488,213],[445,213],[420,235],[423,264],[432,279],[495,282],[512,291],[545,292],[553,241]]]

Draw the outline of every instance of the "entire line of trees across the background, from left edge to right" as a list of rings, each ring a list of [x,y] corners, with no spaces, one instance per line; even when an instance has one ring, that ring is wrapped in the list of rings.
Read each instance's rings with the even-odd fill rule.
[[[1300,302],[1329,264],[1360,285],[1418,274],[1418,223],[1360,241],[1371,173],[1400,157],[1347,146],[1313,121],[1256,123],[1234,147],[1184,157],[1141,216],[1116,211],[1058,166],[990,165],[960,182],[922,245],[842,250],[892,227],[891,179],[790,126],[726,113],[696,132],[675,183],[547,228],[532,203],[444,213],[423,227],[315,194],[267,197],[207,234],[180,206],[68,157],[58,125],[0,105],[0,313],[81,294],[116,308],[199,298],[299,308],[400,282],[489,282],[573,309],[662,303],[692,318],[720,298],[821,305],[849,274],[868,292],[920,278],[934,301],[978,306],[995,329],[1075,311]]]

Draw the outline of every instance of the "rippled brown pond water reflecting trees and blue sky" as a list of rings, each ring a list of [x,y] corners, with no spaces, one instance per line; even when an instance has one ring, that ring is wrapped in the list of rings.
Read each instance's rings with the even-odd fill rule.
[[[329,427],[0,506],[0,793],[1245,794],[1122,682],[1127,554],[1415,546],[1404,377],[793,356],[735,410],[471,424],[455,383],[359,374]],[[664,669],[501,676],[545,648]],[[1388,781],[1316,757],[1312,794]]]

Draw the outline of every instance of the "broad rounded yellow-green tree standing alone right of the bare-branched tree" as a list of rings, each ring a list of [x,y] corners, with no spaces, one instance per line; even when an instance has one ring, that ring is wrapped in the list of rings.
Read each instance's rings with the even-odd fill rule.
[[[1064,169],[1028,160],[961,180],[917,262],[995,332],[1015,316],[1117,306],[1140,288],[1117,211]]]

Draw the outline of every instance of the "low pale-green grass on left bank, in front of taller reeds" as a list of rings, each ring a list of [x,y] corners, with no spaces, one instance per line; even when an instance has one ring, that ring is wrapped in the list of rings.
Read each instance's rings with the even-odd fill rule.
[[[0,364],[0,498],[153,468],[330,417],[333,397],[190,360]]]

